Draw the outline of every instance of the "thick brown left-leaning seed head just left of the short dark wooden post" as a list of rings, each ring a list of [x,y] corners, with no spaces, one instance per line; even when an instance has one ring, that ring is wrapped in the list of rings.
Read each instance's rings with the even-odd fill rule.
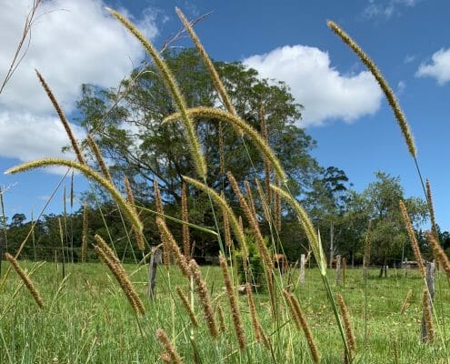
[[[135,290],[135,286],[131,282],[130,278],[128,278],[124,267],[120,263],[119,259],[115,256],[114,251],[109,248],[109,246],[105,243],[105,240],[100,236],[95,235],[95,240],[98,243],[98,245],[94,246],[95,251],[105,262],[111,273],[113,273],[113,275],[115,276],[115,279],[124,291],[126,298],[128,298],[131,307],[135,309],[135,312],[137,314],[144,315],[145,308],[141,301],[141,298],[139,298],[139,295]]]

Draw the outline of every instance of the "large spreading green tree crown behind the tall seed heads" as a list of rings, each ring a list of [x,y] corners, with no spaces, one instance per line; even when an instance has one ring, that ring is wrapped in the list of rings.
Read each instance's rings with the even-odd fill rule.
[[[215,87],[195,50],[168,53],[165,60],[174,72],[188,106],[221,107]],[[302,106],[295,103],[285,83],[261,79],[254,69],[247,69],[238,62],[215,62],[215,67],[237,114],[257,130],[261,129],[261,106],[265,107],[268,139],[282,160],[293,193],[310,187],[318,170],[315,159],[309,154],[315,141],[299,127]],[[95,136],[111,164],[116,181],[124,175],[130,178],[138,201],[148,203],[152,200],[152,185],[156,179],[165,202],[176,205],[181,194],[182,176],[192,177],[195,168],[183,126],[162,124],[165,116],[175,112],[175,106],[155,66],[147,66],[144,72],[133,72],[123,81],[121,89],[125,88],[128,92],[124,96],[115,89],[83,86],[82,97],[77,103],[80,121]],[[123,97],[116,103],[119,95]],[[195,126],[208,165],[209,186],[224,189],[231,197],[226,178],[219,168],[219,124],[213,120],[199,120]],[[250,141],[237,136],[228,125],[223,125],[223,137],[225,171],[232,171],[239,181],[264,176],[264,160]],[[200,202],[200,199],[196,201]],[[207,206],[195,204],[196,222],[211,223]]]

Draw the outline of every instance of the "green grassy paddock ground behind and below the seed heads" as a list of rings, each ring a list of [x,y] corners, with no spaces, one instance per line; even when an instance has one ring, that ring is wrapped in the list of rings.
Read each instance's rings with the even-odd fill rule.
[[[22,262],[25,268],[32,263]],[[4,263],[4,272],[7,265]],[[214,298],[215,307],[224,308],[228,329],[215,342],[208,335],[201,308],[195,312],[201,325],[193,331],[185,308],[175,294],[179,285],[188,291],[188,282],[177,268],[158,270],[157,298],[145,298],[145,267],[125,266],[143,300],[145,316],[136,318],[121,289],[105,266],[98,263],[66,266],[68,278],[62,283],[62,267],[45,263],[33,279],[45,299],[39,309],[21,281],[11,272],[0,291],[0,363],[154,363],[161,362],[164,351],[155,340],[155,330],[163,328],[185,362],[278,362],[309,363],[309,351],[303,332],[299,332],[279,297],[276,319],[270,314],[268,298],[256,294],[256,306],[262,325],[271,336],[273,352],[255,342],[245,296],[240,309],[245,320],[248,349],[240,352],[229,313],[220,268],[204,267],[203,275]],[[345,296],[355,326],[356,360],[364,363],[437,363],[447,362],[446,349],[450,311],[450,291],[446,278],[437,274],[435,294],[436,339],[420,342],[423,280],[416,271],[391,270],[388,278],[377,278],[370,270],[365,293],[361,269],[347,269],[345,284],[334,287]],[[334,272],[329,272],[335,286]],[[296,283],[294,274],[293,282]],[[286,276],[284,277],[286,280]],[[286,283],[286,282],[285,282]],[[409,289],[413,290],[404,315],[399,311]],[[325,298],[316,269],[306,270],[306,283],[295,288],[306,318],[313,330],[322,362],[339,363],[343,346],[332,309]],[[365,297],[367,319],[365,320]],[[196,299],[196,298],[195,298]],[[192,334],[192,337],[191,337]]]

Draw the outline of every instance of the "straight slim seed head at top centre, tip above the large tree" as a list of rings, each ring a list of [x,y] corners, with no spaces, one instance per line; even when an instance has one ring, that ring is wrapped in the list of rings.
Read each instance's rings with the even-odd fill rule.
[[[203,47],[202,43],[200,42],[200,39],[195,34],[194,28],[192,27],[191,23],[185,18],[185,15],[182,13],[182,11],[175,7],[176,15],[180,18],[183,25],[185,25],[185,28],[189,35],[191,35],[191,38],[194,42],[195,48],[197,49],[197,52],[202,56],[205,66],[208,69],[209,73],[211,74],[211,78],[213,80],[215,89],[220,95],[220,98],[222,99],[222,102],[224,103],[225,108],[228,110],[228,112],[232,114],[236,114],[235,112],[235,106],[231,103],[230,97],[228,96],[228,93],[225,90],[224,84],[220,80],[219,74],[215,70],[215,66],[213,65],[213,62],[209,58],[208,54],[205,51],[205,48]]]

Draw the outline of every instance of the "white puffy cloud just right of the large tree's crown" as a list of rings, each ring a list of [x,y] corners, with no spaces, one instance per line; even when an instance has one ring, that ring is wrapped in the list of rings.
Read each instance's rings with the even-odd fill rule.
[[[342,75],[330,65],[328,54],[315,47],[286,45],[250,56],[244,63],[260,76],[285,81],[291,87],[295,100],[305,106],[302,126],[333,119],[352,122],[380,107],[382,94],[369,72]]]

